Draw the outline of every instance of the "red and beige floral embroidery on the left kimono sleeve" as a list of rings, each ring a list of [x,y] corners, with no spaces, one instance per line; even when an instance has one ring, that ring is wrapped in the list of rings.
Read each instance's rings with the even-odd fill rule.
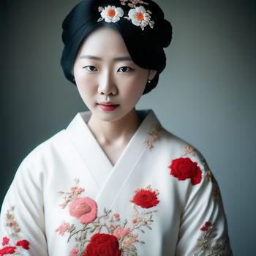
[[[20,239],[20,226],[15,221],[15,217],[13,215],[13,211],[15,210],[15,206],[12,206],[10,210],[7,211],[6,220],[7,220],[7,227],[10,227],[11,230],[11,237],[4,237],[2,239],[2,246],[3,248],[0,249],[0,256],[3,255],[23,255],[21,251],[23,249],[29,250],[29,241],[25,239]]]

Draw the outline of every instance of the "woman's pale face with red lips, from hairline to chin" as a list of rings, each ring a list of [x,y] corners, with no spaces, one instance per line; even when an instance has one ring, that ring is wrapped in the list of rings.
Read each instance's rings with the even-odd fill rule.
[[[73,72],[83,102],[94,118],[104,121],[118,121],[134,111],[147,80],[156,74],[132,61],[113,29],[99,29],[86,38]]]

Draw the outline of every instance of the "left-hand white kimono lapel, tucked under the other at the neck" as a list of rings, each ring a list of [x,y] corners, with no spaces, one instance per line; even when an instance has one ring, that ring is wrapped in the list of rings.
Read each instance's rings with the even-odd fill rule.
[[[66,131],[100,189],[113,169],[113,165],[87,127],[86,123],[90,116],[89,111],[78,113]]]

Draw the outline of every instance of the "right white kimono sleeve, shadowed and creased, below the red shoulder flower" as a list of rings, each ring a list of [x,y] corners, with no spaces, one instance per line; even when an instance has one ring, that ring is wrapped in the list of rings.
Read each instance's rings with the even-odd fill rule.
[[[202,171],[198,184],[191,184],[181,215],[176,256],[233,255],[219,186],[206,160],[191,157]]]

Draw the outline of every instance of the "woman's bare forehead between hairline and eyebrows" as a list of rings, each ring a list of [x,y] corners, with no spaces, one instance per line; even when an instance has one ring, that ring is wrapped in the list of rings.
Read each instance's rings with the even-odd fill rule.
[[[129,56],[124,39],[118,31],[102,28],[93,31],[83,41],[78,56],[83,54],[95,56]]]

